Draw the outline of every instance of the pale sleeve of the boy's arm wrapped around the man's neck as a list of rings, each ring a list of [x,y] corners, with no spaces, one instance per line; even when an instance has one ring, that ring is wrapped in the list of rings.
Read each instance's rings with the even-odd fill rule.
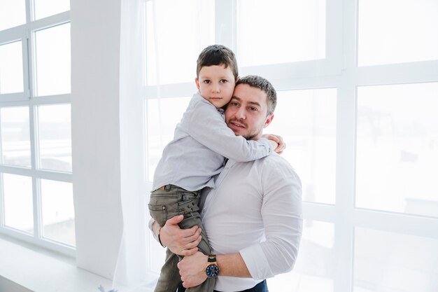
[[[212,151],[237,162],[257,160],[273,150],[267,139],[248,141],[236,136],[209,102],[199,102],[193,110],[188,134]]]

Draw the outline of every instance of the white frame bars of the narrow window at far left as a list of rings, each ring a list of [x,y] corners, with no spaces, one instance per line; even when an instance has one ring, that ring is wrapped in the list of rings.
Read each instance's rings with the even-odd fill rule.
[[[69,244],[56,242],[43,237],[43,221],[41,214],[41,179],[52,181],[62,181],[72,183],[71,172],[57,172],[46,169],[39,169],[38,159],[38,117],[37,107],[41,105],[71,104],[71,95],[50,95],[38,97],[34,95],[36,88],[36,57],[35,57],[35,33],[41,29],[48,29],[57,25],[64,25],[70,22],[70,12],[66,11],[56,15],[34,20],[31,11],[33,1],[26,0],[26,23],[0,32],[0,44],[13,41],[22,41],[23,54],[23,81],[24,92],[0,95],[0,107],[28,106],[29,107],[29,127],[31,144],[31,167],[18,167],[12,165],[0,165],[0,172],[7,174],[17,174],[28,176],[32,179],[32,195],[34,205],[34,235],[26,232],[9,228],[4,225],[4,205],[3,205],[3,183],[0,188],[0,234],[29,242],[45,249],[57,251],[68,256],[76,255],[76,248]]]

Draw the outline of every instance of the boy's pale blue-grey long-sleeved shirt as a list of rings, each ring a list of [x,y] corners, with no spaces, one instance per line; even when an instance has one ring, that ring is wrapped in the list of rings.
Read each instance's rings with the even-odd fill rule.
[[[267,139],[247,141],[236,136],[227,127],[223,111],[197,93],[176,125],[174,140],[164,148],[155,169],[153,190],[169,183],[186,190],[212,188],[212,177],[222,170],[224,157],[250,161],[271,151]]]

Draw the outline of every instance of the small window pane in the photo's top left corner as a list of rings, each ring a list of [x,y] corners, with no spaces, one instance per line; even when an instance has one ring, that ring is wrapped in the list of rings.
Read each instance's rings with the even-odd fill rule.
[[[26,23],[25,0],[0,0],[0,30],[24,23]]]

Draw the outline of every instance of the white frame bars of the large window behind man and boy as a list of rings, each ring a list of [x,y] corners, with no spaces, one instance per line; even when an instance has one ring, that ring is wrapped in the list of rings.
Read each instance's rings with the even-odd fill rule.
[[[325,60],[239,68],[241,76],[264,76],[278,91],[337,89],[335,204],[303,203],[305,219],[334,225],[333,291],[353,291],[355,228],[438,239],[438,217],[355,207],[357,88],[438,82],[438,60],[358,67],[358,1],[326,1]],[[236,0],[216,0],[215,14],[216,43],[236,51]],[[144,90],[145,99],[157,96],[155,85],[146,86]],[[160,85],[162,97],[190,96],[192,90],[192,83]],[[150,184],[147,183],[149,188]]]

